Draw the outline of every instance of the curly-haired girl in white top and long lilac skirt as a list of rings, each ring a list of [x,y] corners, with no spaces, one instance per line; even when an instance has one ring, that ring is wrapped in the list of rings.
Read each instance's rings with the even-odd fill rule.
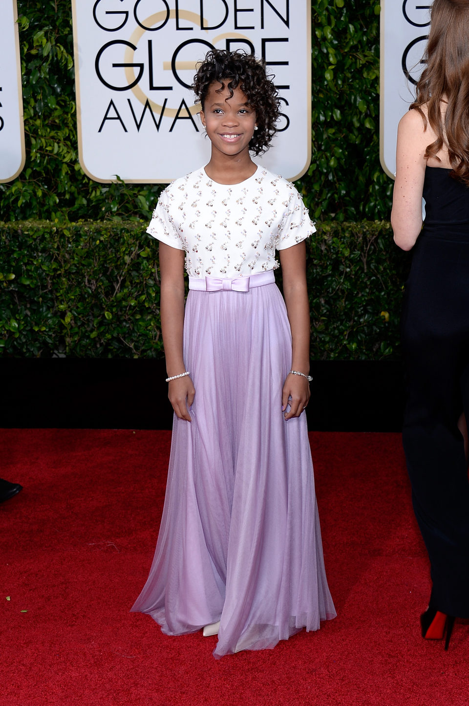
[[[249,155],[266,150],[279,115],[261,62],[210,52],[194,91],[210,162],[162,192],[148,227],[174,426],[155,558],[132,610],[168,635],[218,633],[221,657],[336,614],[304,414],[314,225],[292,184]]]

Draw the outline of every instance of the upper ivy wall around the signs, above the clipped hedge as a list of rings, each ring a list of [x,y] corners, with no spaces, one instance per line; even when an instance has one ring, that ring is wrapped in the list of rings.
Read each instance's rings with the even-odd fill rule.
[[[71,2],[18,0],[18,16],[27,157],[0,184],[0,221],[148,220],[160,185],[97,184],[78,164]],[[297,186],[316,220],[386,219],[379,4],[314,0],[311,16],[313,160]]]

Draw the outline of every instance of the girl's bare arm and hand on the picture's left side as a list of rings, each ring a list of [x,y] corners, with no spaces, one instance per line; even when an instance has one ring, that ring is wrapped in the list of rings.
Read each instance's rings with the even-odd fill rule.
[[[161,333],[165,345],[168,378],[186,370],[182,348],[184,329],[184,250],[160,242]],[[168,397],[179,419],[191,421],[188,407],[194,402],[194,385],[189,375],[168,383]]]

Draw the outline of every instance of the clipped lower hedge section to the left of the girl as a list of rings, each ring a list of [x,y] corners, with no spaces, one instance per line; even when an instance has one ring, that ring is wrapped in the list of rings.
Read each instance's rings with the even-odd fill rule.
[[[143,232],[141,222],[0,224],[2,354],[160,356],[158,248]]]

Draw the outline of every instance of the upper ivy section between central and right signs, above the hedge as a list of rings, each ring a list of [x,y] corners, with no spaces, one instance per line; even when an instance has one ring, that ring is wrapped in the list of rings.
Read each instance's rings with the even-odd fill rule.
[[[311,8],[313,157],[300,190],[316,219],[387,219],[392,181],[379,164],[379,3],[314,0]]]

